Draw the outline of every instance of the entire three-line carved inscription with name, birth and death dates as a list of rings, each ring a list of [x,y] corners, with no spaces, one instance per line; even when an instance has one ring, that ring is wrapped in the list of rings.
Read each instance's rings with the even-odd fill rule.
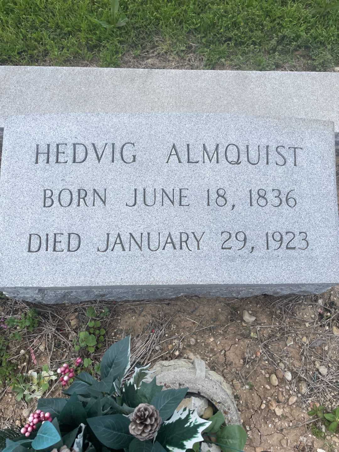
[[[247,165],[254,168],[261,165],[264,168],[273,166],[296,168],[305,157],[302,146],[294,143],[280,144],[249,144],[239,142],[215,143],[213,145],[201,143],[191,145],[179,141],[167,143],[162,150],[164,168],[171,166],[173,171],[178,165]],[[135,168],[143,159],[138,150],[135,139],[106,142],[66,142],[61,140],[54,143],[36,143],[32,149],[32,165],[119,165],[124,168]],[[208,165],[208,166],[207,166]],[[59,166],[57,166],[59,168]],[[113,167],[112,167],[113,168]],[[210,171],[210,170],[209,170]],[[272,171],[272,170],[270,170]],[[161,181],[161,174],[159,174]],[[263,181],[264,182],[264,181]],[[80,185],[80,184],[79,184]],[[281,230],[271,230],[263,225],[262,232],[244,230],[239,222],[236,228],[227,227],[228,218],[236,218],[237,212],[254,209],[267,212],[296,212],[300,203],[297,185],[288,181],[284,186],[239,187],[230,190],[230,185],[222,184],[210,187],[192,188],[189,183],[178,186],[122,186],[116,187],[107,182],[97,181],[95,187],[81,184],[79,187],[46,186],[39,188],[37,196],[39,205],[44,212],[60,212],[74,210],[84,212],[84,209],[104,209],[105,215],[112,212],[114,206],[123,218],[124,211],[137,212],[139,209],[154,211],[166,210],[169,217],[174,209],[180,208],[182,217],[195,206],[203,206],[207,212],[217,212],[222,218],[224,227],[219,231],[208,231],[206,224],[175,230],[172,228],[147,231],[118,230],[97,231],[98,241],[91,250],[98,255],[117,253],[166,253],[183,252],[199,253],[204,250],[219,250],[223,256],[253,255],[256,250],[268,254],[275,253],[307,253],[311,247],[311,237],[305,231],[305,226],[298,228],[286,226]],[[117,197],[117,192],[121,196]],[[126,210],[124,210],[126,209]],[[227,217],[233,216],[233,217]],[[234,224],[234,222],[233,222]],[[76,253],[85,246],[80,231],[29,231],[27,235],[27,252],[36,253]]]

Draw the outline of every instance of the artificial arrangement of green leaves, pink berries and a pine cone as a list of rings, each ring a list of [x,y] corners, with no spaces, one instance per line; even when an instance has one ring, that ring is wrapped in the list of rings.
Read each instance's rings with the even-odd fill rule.
[[[195,410],[177,411],[188,388],[164,390],[155,377],[146,382],[149,366],[136,367],[122,385],[129,368],[129,336],[104,353],[99,381],[65,363],[58,374],[64,387],[74,379],[64,390],[69,398],[39,399],[21,435],[7,438],[2,452],[197,452],[202,442],[242,451],[247,435],[240,425],[225,425],[220,411],[209,420]]]

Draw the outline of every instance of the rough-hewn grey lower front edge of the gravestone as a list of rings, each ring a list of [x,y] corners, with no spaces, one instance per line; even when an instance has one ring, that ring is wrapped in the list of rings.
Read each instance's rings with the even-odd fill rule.
[[[330,284],[291,284],[291,285],[210,285],[210,286],[142,286],[142,287],[83,287],[83,288],[30,288],[11,287],[3,290],[9,298],[32,303],[57,304],[80,303],[81,301],[125,301],[156,300],[193,295],[200,297],[245,298],[267,294],[273,296],[296,294],[309,295],[326,292]]]

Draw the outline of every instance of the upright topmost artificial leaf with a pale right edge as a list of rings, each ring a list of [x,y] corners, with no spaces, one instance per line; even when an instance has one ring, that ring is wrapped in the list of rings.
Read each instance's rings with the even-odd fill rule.
[[[100,366],[101,378],[108,377],[113,369],[114,373],[118,376],[124,376],[126,374],[130,365],[130,345],[131,336],[127,336],[106,350]]]

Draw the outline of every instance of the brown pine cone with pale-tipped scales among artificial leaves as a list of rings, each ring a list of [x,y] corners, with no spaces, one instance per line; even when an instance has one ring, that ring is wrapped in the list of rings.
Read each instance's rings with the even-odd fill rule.
[[[159,411],[153,405],[141,403],[130,416],[129,431],[140,441],[154,438],[159,430],[161,418]]]

